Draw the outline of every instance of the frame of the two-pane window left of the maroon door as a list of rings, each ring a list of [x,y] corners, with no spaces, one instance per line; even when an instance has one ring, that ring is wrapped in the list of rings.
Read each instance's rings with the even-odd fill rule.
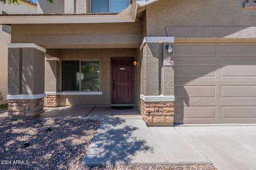
[[[62,61],[79,61],[79,91],[66,91],[66,90],[62,90]],[[98,61],[99,62],[99,91],[81,91],[81,61]],[[60,91],[61,91],[61,94],[65,95],[65,92],[68,92],[70,94],[78,94],[78,93],[81,93],[81,94],[102,94],[101,92],[101,86],[100,86],[100,59],[63,59],[63,60],[60,60]],[[68,94],[67,93],[67,94]]]

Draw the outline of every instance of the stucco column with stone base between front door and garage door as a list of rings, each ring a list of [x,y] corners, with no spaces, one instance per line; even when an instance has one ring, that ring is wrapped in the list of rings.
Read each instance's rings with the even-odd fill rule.
[[[173,37],[145,37],[141,45],[141,115],[148,126],[174,122],[174,70],[166,45]]]

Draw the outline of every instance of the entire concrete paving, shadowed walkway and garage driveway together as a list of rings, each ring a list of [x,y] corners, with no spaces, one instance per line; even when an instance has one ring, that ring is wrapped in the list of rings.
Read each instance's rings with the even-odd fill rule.
[[[256,126],[148,128],[143,120],[104,120],[83,164],[205,164],[255,169]]]

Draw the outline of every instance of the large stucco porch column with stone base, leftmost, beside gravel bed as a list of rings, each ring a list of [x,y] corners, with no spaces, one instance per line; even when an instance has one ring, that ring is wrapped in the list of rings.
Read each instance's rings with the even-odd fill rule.
[[[35,116],[44,112],[45,48],[33,43],[8,44],[8,113]]]

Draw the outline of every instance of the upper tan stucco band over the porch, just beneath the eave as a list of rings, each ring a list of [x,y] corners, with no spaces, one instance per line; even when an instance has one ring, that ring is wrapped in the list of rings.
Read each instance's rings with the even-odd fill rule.
[[[127,35],[141,33],[141,22],[92,24],[13,24],[12,43],[28,43],[28,35]]]

